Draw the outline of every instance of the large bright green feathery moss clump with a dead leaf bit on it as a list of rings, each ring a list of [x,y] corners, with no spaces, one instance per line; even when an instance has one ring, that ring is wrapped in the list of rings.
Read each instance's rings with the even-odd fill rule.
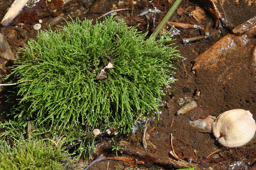
[[[57,31],[42,31],[29,40],[13,68],[19,99],[14,118],[37,125],[68,128],[118,127],[127,133],[135,115],[157,111],[163,86],[173,81],[172,62],[180,57],[166,45],[167,36],[145,41],[146,34],[109,17],[68,22]],[[96,76],[105,69],[107,78]]]

